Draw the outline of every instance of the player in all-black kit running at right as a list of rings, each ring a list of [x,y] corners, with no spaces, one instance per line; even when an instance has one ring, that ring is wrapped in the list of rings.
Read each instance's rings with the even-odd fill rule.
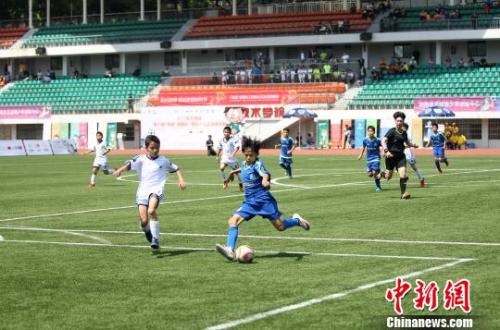
[[[399,174],[399,187],[401,188],[401,199],[409,199],[410,194],[406,191],[408,174],[406,173],[406,156],[404,150],[406,147],[418,148],[408,139],[408,135],[403,128],[406,115],[403,112],[395,112],[394,120],[396,127],[391,128],[382,139],[382,148],[385,154],[385,172],[380,176],[389,180],[392,177],[394,169]]]

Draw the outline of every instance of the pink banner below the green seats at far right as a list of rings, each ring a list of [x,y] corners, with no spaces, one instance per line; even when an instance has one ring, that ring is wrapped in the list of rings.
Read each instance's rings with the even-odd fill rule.
[[[432,107],[442,107],[453,112],[498,111],[495,99],[485,96],[470,97],[418,97],[414,100],[417,112]]]

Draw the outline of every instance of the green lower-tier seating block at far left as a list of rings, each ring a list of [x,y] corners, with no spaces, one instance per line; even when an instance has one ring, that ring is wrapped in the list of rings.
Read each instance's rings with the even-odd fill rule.
[[[0,105],[46,105],[54,113],[124,112],[130,96],[144,96],[158,80],[158,74],[22,80],[0,93]]]

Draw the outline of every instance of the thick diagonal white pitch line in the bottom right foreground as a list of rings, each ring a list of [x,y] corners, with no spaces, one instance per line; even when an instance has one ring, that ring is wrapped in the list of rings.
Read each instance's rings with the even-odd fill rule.
[[[420,270],[420,271],[408,273],[408,274],[402,275],[402,277],[405,278],[405,279],[409,279],[409,278],[421,276],[423,274],[427,274],[427,273],[431,273],[431,272],[436,272],[436,271],[439,271],[439,270],[442,270],[442,269],[445,269],[445,268],[453,267],[453,266],[456,266],[458,264],[469,262],[469,261],[471,261],[471,260],[470,259],[459,259],[459,260],[456,260],[456,261],[453,261],[453,262],[446,263],[444,265],[430,267],[430,268],[426,268],[426,269],[423,269],[423,270]],[[274,316],[274,315],[278,315],[278,314],[283,314],[283,313],[288,313],[290,311],[298,310],[298,309],[305,308],[305,307],[308,307],[308,306],[311,306],[311,305],[321,304],[321,303],[323,303],[325,301],[332,301],[332,300],[336,300],[336,299],[339,299],[339,298],[343,298],[343,297],[346,297],[346,296],[354,294],[354,293],[358,293],[358,292],[361,292],[361,291],[366,291],[366,290],[369,290],[369,289],[372,289],[372,288],[375,288],[375,287],[378,287],[378,286],[382,286],[382,285],[385,285],[385,284],[393,283],[395,281],[396,281],[396,278],[389,278],[389,279],[386,279],[386,280],[381,280],[381,281],[377,281],[377,282],[368,283],[368,284],[365,284],[365,285],[358,286],[357,288],[354,288],[354,289],[351,289],[351,290],[346,290],[346,291],[342,291],[342,292],[330,294],[330,295],[327,295],[327,296],[323,296],[323,297],[319,297],[319,298],[314,298],[314,299],[306,300],[306,301],[303,301],[303,302],[300,302],[300,303],[297,303],[297,304],[283,306],[283,307],[280,307],[280,308],[269,310],[267,312],[262,312],[262,313],[257,313],[257,314],[254,314],[254,315],[250,315],[248,317],[245,317],[245,318],[242,318],[242,319],[239,319],[239,320],[234,320],[234,321],[230,321],[230,322],[227,322],[227,323],[222,323],[222,324],[214,325],[214,326],[206,328],[206,330],[225,330],[225,329],[234,328],[234,327],[240,326],[242,324],[252,323],[252,322],[255,322],[255,321],[258,321],[258,320],[262,320],[262,319],[268,318],[270,316]]]

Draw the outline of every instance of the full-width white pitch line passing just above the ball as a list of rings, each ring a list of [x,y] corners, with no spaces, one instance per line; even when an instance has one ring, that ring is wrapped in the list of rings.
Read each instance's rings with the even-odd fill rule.
[[[36,227],[9,227],[0,226],[0,230],[40,230],[40,231],[71,231],[74,233],[98,233],[98,234],[132,234],[143,235],[142,231],[119,231],[119,230],[94,230],[94,229],[50,229]],[[201,234],[201,233],[161,233],[164,236],[180,237],[212,237],[225,238],[225,234]],[[422,240],[395,240],[375,238],[335,238],[335,237],[296,237],[296,236],[260,236],[239,235],[240,238],[251,238],[261,240],[284,240],[284,241],[319,241],[319,242],[359,242],[359,243],[384,243],[384,244],[415,244],[415,245],[464,245],[464,246],[500,246],[497,242],[460,242],[460,241],[422,241]]]

